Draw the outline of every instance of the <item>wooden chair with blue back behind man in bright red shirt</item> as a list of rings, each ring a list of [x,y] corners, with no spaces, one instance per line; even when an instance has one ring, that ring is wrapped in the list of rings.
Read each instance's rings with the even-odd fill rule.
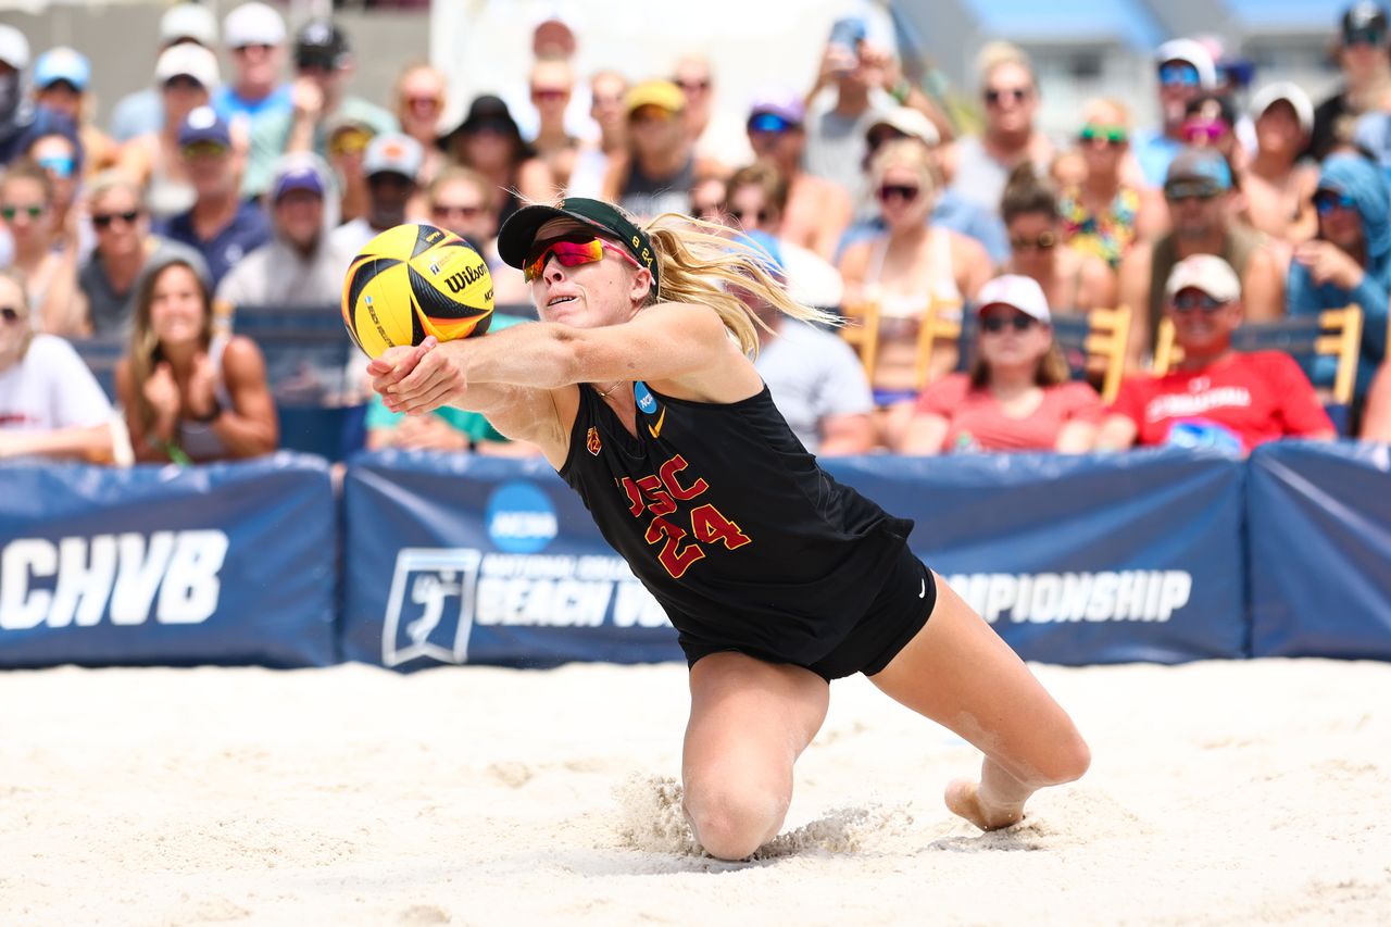
[[[1348,405],[1358,383],[1362,354],[1362,306],[1352,303],[1342,309],[1324,309],[1316,316],[1251,322],[1237,328],[1231,344],[1237,351],[1284,351],[1296,360],[1319,355],[1337,358],[1333,402]],[[1159,322],[1153,370],[1161,376],[1182,359],[1184,349],[1174,342],[1174,323],[1166,316]]]

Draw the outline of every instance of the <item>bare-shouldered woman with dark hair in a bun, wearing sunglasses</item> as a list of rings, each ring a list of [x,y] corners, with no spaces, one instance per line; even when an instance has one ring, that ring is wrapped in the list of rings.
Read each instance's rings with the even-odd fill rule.
[[[1054,312],[1085,315],[1116,306],[1116,274],[1096,255],[1084,255],[1063,239],[1057,193],[1032,164],[1014,168],[1000,214],[1010,232],[1004,273],[1036,281]]]

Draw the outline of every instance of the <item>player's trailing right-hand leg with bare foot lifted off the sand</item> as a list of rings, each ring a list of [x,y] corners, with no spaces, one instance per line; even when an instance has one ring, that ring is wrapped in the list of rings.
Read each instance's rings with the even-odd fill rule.
[[[1063,707],[940,576],[928,624],[869,679],[985,753],[981,781],[956,781],[946,793],[982,830],[1018,821],[1034,792],[1081,778],[1091,764]]]

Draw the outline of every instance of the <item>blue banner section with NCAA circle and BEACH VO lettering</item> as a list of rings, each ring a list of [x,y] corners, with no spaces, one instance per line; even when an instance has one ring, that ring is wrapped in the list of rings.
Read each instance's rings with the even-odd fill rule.
[[[401,670],[680,658],[545,461],[380,451],[344,480],[342,651]]]

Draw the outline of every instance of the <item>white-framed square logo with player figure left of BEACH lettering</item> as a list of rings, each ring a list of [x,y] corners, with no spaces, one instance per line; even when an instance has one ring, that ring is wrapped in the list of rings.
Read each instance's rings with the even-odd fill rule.
[[[387,593],[381,663],[467,663],[474,589],[483,551],[403,547]]]

